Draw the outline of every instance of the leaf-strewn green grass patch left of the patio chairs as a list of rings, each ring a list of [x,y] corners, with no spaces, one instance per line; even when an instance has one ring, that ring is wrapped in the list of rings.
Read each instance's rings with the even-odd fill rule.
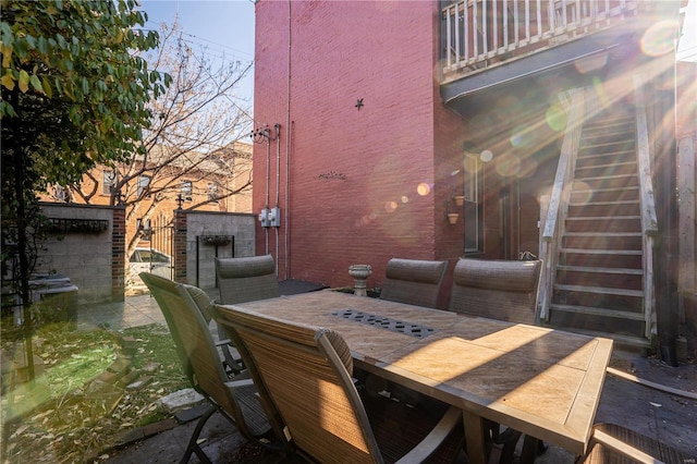
[[[136,341],[134,368],[159,366],[146,387],[105,399],[90,386],[122,355],[119,335]],[[7,359],[23,347],[11,320],[2,321],[0,340],[7,366]],[[37,367],[34,383],[13,380],[3,367],[3,463],[85,462],[113,447],[121,434],[169,417],[159,411],[157,401],[188,387],[174,343],[161,326],[114,333],[107,329],[75,331],[65,322],[47,323],[36,330],[33,346],[44,363],[42,369],[40,364]]]

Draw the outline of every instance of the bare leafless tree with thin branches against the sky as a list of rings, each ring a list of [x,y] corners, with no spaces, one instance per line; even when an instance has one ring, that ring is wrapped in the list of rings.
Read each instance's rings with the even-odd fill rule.
[[[162,25],[160,37],[160,47],[145,58],[172,76],[171,85],[148,105],[152,118],[144,131],[143,150],[113,166],[111,204],[126,206],[126,221],[149,219],[164,199],[182,194],[184,181],[208,181],[218,187],[200,202],[183,203],[185,209],[252,188],[250,164],[244,162],[250,154],[235,147],[250,132],[253,121],[244,108],[247,102],[234,94],[252,63],[224,57],[212,60],[206,51],[195,52],[176,21],[172,27]],[[87,174],[71,185],[70,196],[94,203],[102,182]],[[137,234],[129,237],[129,256],[138,241]]]

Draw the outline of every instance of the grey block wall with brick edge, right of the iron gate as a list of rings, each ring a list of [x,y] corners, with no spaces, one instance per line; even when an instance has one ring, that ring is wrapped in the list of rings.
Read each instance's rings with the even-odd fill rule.
[[[186,276],[182,279],[178,274],[176,280],[211,289],[216,286],[217,256],[255,255],[256,215],[175,211],[175,216],[180,213],[186,216],[186,221],[183,222],[186,228]],[[179,223],[182,222],[175,220],[175,224]],[[175,231],[175,235],[178,233]]]

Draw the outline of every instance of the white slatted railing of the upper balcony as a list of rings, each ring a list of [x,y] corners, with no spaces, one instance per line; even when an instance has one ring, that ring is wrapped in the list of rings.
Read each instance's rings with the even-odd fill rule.
[[[443,8],[445,80],[607,29],[635,0],[460,0]]]

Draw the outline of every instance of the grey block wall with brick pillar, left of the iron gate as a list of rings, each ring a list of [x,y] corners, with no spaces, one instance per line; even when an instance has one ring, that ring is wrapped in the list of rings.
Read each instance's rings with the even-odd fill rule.
[[[122,208],[63,204],[41,208],[57,230],[44,244],[34,272],[70,278],[82,302],[123,300],[124,261],[114,256],[123,254],[123,244],[114,243],[114,232],[119,235],[124,228],[123,223],[114,228],[114,216],[123,221],[118,213]]]

